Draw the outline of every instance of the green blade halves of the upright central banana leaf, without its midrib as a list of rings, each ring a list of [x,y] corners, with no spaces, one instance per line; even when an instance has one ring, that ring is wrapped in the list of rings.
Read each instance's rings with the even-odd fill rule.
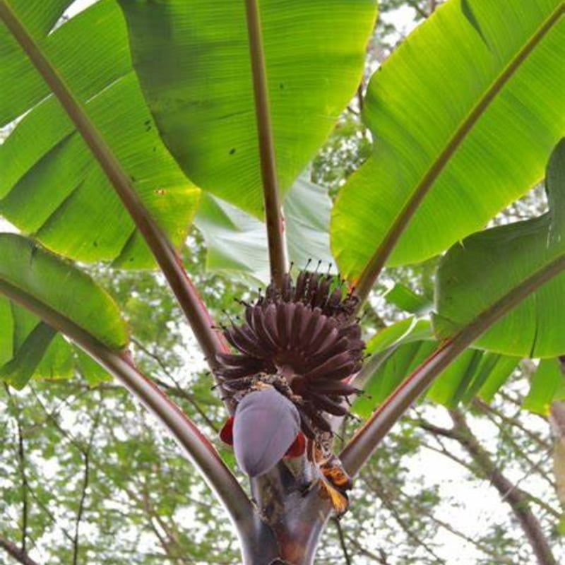
[[[262,218],[243,1],[120,0],[133,66],[184,172]],[[374,0],[262,0],[278,180],[284,193],[330,133],[362,77]]]

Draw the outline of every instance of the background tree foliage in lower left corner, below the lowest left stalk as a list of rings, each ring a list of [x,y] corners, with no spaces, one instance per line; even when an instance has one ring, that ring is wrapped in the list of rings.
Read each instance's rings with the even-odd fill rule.
[[[189,386],[189,381],[183,383]],[[83,529],[79,563],[123,565],[126,559],[153,565],[166,550],[197,562],[237,562],[237,545],[229,523],[222,520],[221,507],[127,391],[112,385],[88,389],[78,379],[35,383],[31,390],[20,397],[6,396],[0,389],[0,422],[5,424],[0,426],[0,511],[6,518],[0,526],[2,537],[15,540],[19,535],[22,492],[13,486],[20,482],[19,465],[13,463],[18,461],[20,422],[30,506],[27,534],[37,540],[37,559],[54,565],[73,560],[88,451],[88,535]],[[195,396],[201,400],[201,395]],[[179,403],[207,428],[186,400]],[[213,529],[207,527],[210,523],[215,524]],[[168,533],[162,528],[169,528]],[[156,533],[165,535],[169,545],[161,545]],[[42,540],[47,539],[50,542],[44,545]],[[0,561],[6,562],[4,554]]]

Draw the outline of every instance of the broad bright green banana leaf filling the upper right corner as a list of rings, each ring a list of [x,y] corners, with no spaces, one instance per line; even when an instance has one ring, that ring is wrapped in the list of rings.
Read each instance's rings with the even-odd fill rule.
[[[374,154],[331,225],[352,283],[396,221],[409,223],[388,263],[422,261],[542,179],[565,131],[563,13],[561,0],[449,0],[376,71],[363,112]]]

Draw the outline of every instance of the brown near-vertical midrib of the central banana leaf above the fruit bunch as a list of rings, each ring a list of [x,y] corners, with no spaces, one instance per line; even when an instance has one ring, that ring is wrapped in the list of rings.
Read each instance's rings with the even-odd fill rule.
[[[268,86],[261,34],[261,17],[257,0],[245,0],[249,53],[251,55],[251,73],[263,179],[263,201],[269,249],[270,278],[277,288],[283,285],[286,273],[285,222],[280,208],[278,194],[277,169],[275,164],[275,144],[270,123]]]

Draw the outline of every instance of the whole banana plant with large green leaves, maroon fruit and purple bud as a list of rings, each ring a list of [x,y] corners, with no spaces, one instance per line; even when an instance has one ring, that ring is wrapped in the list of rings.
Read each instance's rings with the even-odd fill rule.
[[[18,230],[0,235],[0,376],[94,383],[102,367],[200,470],[242,562],[311,564],[423,393],[492,398],[517,359],[565,354],[564,6],[438,8],[371,77],[373,150],[331,203],[301,174],[357,92],[374,0],[100,0],[61,18],[71,4],[0,0],[0,214]],[[484,230],[544,178],[545,215]],[[195,216],[216,266],[267,278],[230,326],[180,258]],[[293,272],[309,245],[313,265]],[[331,254],[339,276],[315,268]],[[431,321],[365,347],[357,316],[383,268],[438,255]],[[249,489],[136,368],[117,305],[81,267],[96,262],[160,269]],[[366,421],[338,452],[335,422],[364,387]]]

